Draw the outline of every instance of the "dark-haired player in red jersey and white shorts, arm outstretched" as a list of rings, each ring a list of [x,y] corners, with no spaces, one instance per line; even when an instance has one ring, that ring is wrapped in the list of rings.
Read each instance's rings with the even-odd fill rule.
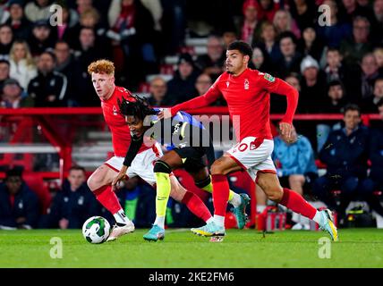
[[[337,240],[331,211],[328,209],[318,211],[301,195],[291,189],[282,188],[279,184],[276,167],[271,160],[274,144],[269,124],[269,94],[275,93],[287,98],[287,111],[279,123],[281,134],[286,139],[291,136],[299,95],[298,91],[284,80],[249,69],[251,55],[250,45],[243,41],[234,41],[226,51],[226,71],[204,95],[175,105],[160,114],[161,117],[169,118],[180,110],[188,111],[207,106],[223,96],[234,123],[237,144],[217,159],[210,168],[213,181],[214,222],[191,231],[212,237],[213,241],[223,239],[229,194],[226,174],[246,170],[269,199],[319,223],[319,227],[328,231],[332,240]]]

